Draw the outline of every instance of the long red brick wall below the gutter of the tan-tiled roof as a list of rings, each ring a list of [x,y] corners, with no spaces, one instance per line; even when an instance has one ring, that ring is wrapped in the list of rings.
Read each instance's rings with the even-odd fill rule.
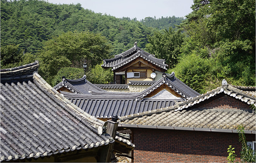
[[[255,134],[246,134],[255,141]],[[234,147],[239,161],[237,133],[133,129],[134,162],[227,162],[227,148]]]

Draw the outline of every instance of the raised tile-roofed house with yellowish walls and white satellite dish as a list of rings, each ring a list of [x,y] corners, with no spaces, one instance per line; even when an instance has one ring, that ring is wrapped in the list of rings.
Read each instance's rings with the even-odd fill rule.
[[[114,83],[128,84],[129,80],[158,80],[162,78],[162,73],[167,70],[168,65],[164,63],[164,59],[155,58],[153,54],[138,48],[135,42],[134,47],[115,55],[115,58],[104,59],[101,66],[105,69],[112,68]]]

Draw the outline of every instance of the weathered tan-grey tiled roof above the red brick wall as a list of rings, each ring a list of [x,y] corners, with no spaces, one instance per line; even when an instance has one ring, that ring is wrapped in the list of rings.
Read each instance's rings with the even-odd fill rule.
[[[156,128],[184,130],[208,129],[209,131],[222,129],[227,132],[228,130],[237,130],[238,126],[242,124],[246,131],[255,134],[255,111],[193,107],[193,105],[196,106],[196,104],[203,103],[203,101],[215,99],[219,94],[240,99],[242,103],[248,105],[255,104],[255,90],[252,92],[253,94],[247,93],[228,85],[223,80],[222,87],[190,98],[187,101],[179,102],[172,107],[120,117],[120,126],[128,127],[129,125],[134,125],[134,127],[138,127],[141,125],[140,127],[151,126],[153,128],[155,126]],[[220,131],[218,130],[218,132]]]

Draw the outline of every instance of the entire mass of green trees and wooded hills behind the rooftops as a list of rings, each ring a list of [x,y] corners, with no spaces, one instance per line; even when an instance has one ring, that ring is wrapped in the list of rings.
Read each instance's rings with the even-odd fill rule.
[[[255,0],[194,0],[186,19],[141,21],[94,13],[80,4],[1,0],[1,69],[39,60],[39,74],[54,86],[62,74],[108,83],[102,59],[140,48],[166,59],[168,73],[204,93],[222,79],[255,86]],[[182,22],[182,23],[181,23]]]

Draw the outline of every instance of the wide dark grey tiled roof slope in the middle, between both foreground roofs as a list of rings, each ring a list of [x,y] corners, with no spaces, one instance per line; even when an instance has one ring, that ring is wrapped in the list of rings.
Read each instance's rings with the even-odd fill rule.
[[[75,97],[70,93],[64,93],[64,97],[69,99],[84,112],[96,118],[111,118],[114,114],[118,116],[138,114],[140,112],[169,107],[176,104],[176,101],[170,99],[127,99],[127,97],[124,97],[122,94],[115,94],[115,96],[90,95],[86,97],[79,95]],[[183,99],[180,98],[177,102],[182,100]]]

